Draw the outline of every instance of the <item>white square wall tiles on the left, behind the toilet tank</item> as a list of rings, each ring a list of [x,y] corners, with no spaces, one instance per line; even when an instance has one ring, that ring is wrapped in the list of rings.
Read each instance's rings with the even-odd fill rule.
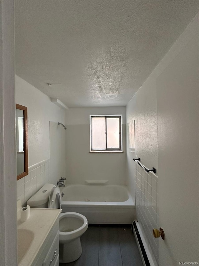
[[[49,182],[50,159],[28,168],[28,175],[17,181],[17,199],[24,205],[45,183]]]

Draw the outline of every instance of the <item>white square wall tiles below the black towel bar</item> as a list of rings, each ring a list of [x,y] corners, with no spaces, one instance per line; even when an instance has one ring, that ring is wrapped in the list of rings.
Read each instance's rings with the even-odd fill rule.
[[[137,220],[156,265],[159,265],[159,241],[153,236],[158,227],[158,177],[147,173],[135,162]]]

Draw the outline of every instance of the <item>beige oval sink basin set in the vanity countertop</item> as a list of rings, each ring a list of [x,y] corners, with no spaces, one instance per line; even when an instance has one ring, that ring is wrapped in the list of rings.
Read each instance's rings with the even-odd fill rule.
[[[27,229],[17,230],[18,263],[20,263],[21,259],[23,259],[24,255],[27,253],[33,239],[33,231]]]

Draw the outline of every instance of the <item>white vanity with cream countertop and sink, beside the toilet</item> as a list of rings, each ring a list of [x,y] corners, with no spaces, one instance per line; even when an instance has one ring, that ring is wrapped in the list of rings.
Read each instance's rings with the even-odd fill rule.
[[[18,266],[59,265],[60,212],[59,209],[30,208],[30,217],[25,222],[21,222],[18,215]]]

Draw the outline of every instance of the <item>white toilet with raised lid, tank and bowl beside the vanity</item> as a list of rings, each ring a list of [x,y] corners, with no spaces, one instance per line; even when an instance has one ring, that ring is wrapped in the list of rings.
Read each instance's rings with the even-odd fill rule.
[[[45,184],[28,201],[31,208],[61,209],[61,193],[58,186]],[[59,256],[60,263],[75,261],[81,256],[80,237],[88,228],[84,215],[65,212],[59,215]]]

